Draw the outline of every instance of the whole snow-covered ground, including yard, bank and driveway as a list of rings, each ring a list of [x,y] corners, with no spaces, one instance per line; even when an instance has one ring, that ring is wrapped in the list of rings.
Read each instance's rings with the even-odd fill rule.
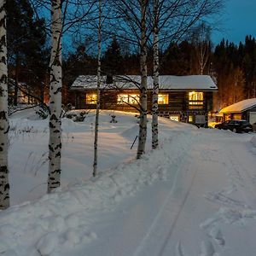
[[[115,113],[111,124],[111,114],[101,113],[96,178],[93,113],[83,123],[63,119],[63,186],[50,195],[47,120],[14,114],[13,207],[0,212],[1,255],[255,255],[255,134],[160,119],[160,149],[148,139],[134,160],[137,119]]]

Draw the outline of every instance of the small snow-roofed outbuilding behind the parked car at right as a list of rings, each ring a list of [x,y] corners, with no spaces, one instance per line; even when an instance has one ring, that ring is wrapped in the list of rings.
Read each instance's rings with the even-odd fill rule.
[[[230,119],[245,119],[251,125],[256,123],[256,98],[247,99],[241,102],[236,102],[226,108],[221,109],[223,120]]]

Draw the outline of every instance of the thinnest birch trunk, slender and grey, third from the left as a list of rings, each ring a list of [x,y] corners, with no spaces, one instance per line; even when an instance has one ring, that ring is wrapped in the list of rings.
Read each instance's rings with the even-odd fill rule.
[[[96,119],[95,119],[95,137],[94,137],[94,161],[93,161],[93,177],[96,177],[98,162],[98,131],[99,131],[99,115],[101,108],[100,88],[101,88],[101,72],[102,72],[102,0],[99,0],[99,27],[98,27],[98,64],[97,64],[97,102],[96,102]]]

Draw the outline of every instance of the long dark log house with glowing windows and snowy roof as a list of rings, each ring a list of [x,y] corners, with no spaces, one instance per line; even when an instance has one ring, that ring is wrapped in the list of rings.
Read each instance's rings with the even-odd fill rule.
[[[141,77],[102,77],[101,108],[138,112]],[[152,109],[153,79],[148,77],[148,113]],[[96,108],[96,76],[79,76],[71,86],[75,108]],[[207,75],[160,76],[159,115],[199,126],[207,126],[212,111],[212,92],[218,90]]]

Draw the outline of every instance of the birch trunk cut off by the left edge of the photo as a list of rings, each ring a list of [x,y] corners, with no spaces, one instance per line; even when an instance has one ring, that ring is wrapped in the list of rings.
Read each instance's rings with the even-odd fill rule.
[[[0,209],[9,207],[6,1],[0,0]]]

